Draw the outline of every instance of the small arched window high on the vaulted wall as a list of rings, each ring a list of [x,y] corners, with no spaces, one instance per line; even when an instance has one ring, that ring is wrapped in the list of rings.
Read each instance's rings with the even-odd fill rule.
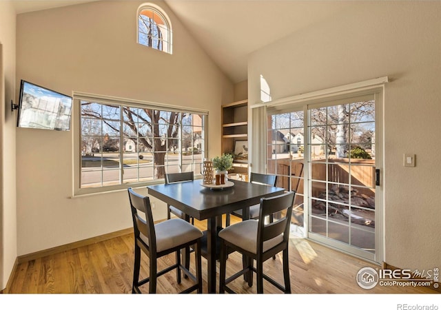
[[[152,3],[138,9],[138,43],[172,54],[172,23],[167,14]]]

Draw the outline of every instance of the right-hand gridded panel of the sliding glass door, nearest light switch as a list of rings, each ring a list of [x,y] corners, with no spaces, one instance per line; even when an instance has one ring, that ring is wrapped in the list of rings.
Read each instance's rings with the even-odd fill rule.
[[[309,238],[373,259],[376,109],[373,95],[308,106]]]

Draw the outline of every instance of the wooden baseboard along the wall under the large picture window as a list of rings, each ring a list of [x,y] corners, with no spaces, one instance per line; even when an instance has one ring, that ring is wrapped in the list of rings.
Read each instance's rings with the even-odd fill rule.
[[[42,258],[48,255],[52,255],[52,254],[58,254],[61,253],[63,251],[68,251],[70,249],[76,249],[78,247],[83,247],[85,245],[93,245],[96,242],[101,242],[104,240],[109,240],[112,238],[116,238],[116,237],[120,237],[120,236],[125,236],[127,234],[133,234],[133,228],[126,228],[126,229],[122,229],[119,231],[114,231],[111,232],[109,234],[104,234],[101,236],[96,236],[96,237],[92,237],[92,238],[88,238],[85,240],[80,240],[80,241],[76,241],[76,242],[72,242],[72,243],[68,243],[67,245],[60,245],[59,247],[52,247],[50,249],[44,249],[42,251],[37,251],[31,254],[25,254],[22,256],[19,256],[17,258],[18,264],[21,264],[22,262],[28,262],[30,260],[35,260],[37,258]],[[18,265],[17,264],[17,265]],[[14,273],[11,273],[14,274]]]

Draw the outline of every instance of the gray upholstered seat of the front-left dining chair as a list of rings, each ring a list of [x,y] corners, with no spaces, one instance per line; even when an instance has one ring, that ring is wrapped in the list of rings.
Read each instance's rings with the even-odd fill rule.
[[[172,218],[158,223],[154,225],[154,230],[156,233],[156,251],[158,252],[172,249],[203,236],[199,229],[189,225],[181,218]],[[140,238],[146,245],[149,245],[146,236],[140,234]]]

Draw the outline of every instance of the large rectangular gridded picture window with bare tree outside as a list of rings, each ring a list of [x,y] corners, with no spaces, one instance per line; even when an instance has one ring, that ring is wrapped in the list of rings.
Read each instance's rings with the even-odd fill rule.
[[[206,114],[78,100],[80,189],[112,189],[201,174]],[[95,191],[94,191],[95,192]]]

